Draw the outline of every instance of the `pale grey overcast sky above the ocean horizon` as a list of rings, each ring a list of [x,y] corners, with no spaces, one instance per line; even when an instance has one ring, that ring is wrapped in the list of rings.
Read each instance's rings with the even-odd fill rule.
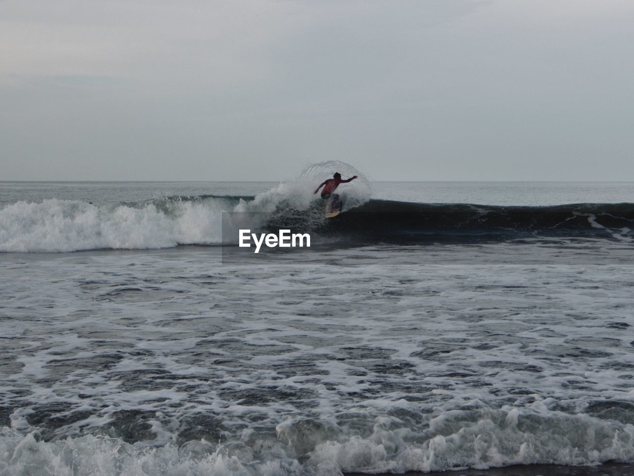
[[[631,0],[0,0],[0,180],[634,180]]]

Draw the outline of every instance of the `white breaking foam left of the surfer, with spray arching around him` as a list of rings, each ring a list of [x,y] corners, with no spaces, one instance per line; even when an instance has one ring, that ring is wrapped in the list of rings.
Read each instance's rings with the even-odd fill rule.
[[[346,184],[344,211],[370,199],[361,173],[344,162],[314,164],[288,183],[256,195],[163,197],[96,206],[85,201],[48,199],[15,202],[0,209],[1,252],[65,252],[87,249],[153,249],[184,244],[223,243],[223,212],[236,213],[237,228],[262,228],[273,216],[323,221],[314,188],[339,169],[359,179]],[[290,212],[289,212],[290,211]],[[238,212],[246,212],[240,214]],[[306,220],[310,219],[310,223]],[[227,223],[225,223],[226,225]]]

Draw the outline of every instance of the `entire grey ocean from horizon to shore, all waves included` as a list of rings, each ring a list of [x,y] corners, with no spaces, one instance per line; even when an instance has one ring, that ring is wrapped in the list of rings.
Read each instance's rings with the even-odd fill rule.
[[[0,183],[0,474],[631,474],[633,192]]]

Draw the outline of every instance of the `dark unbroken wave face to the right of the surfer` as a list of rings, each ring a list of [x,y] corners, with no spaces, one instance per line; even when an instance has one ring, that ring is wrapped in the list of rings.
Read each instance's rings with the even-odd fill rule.
[[[368,241],[606,237],[630,241],[634,204],[491,206],[372,200],[328,223],[332,232]]]

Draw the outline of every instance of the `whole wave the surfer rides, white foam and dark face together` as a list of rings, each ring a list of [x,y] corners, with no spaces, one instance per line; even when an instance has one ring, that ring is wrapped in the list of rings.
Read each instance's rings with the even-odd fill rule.
[[[314,181],[281,184],[255,197],[164,197],[117,206],[44,200],[0,209],[0,251],[64,252],[235,243],[238,228],[309,232],[316,244],[405,244],[527,237],[593,237],[631,242],[634,204],[481,206],[368,200],[343,192],[344,213],[327,220]],[[354,204],[354,206],[351,205]],[[230,212],[235,241],[228,239]],[[227,215],[226,215],[227,216]],[[225,234],[223,237],[223,225]]]

